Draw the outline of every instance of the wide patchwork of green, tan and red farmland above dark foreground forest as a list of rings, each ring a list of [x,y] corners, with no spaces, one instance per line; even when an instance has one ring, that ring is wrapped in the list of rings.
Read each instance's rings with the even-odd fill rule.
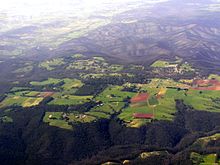
[[[48,98],[51,98],[48,105],[75,106],[88,103],[94,106],[85,112],[65,113],[68,120],[61,119],[61,112],[47,112],[44,121],[58,127],[60,123],[60,127],[69,129],[70,121],[92,122],[116,115],[127,127],[140,127],[157,120],[172,121],[177,112],[177,99],[195,110],[219,112],[219,84],[213,76],[207,80],[180,81],[154,78],[146,84],[109,85],[98,95],[78,95],[76,93],[80,88],[84,88],[82,81],[49,78],[30,82],[30,87],[12,88],[0,106],[32,107]],[[127,91],[131,87],[135,90]],[[49,119],[50,115],[52,118]]]

